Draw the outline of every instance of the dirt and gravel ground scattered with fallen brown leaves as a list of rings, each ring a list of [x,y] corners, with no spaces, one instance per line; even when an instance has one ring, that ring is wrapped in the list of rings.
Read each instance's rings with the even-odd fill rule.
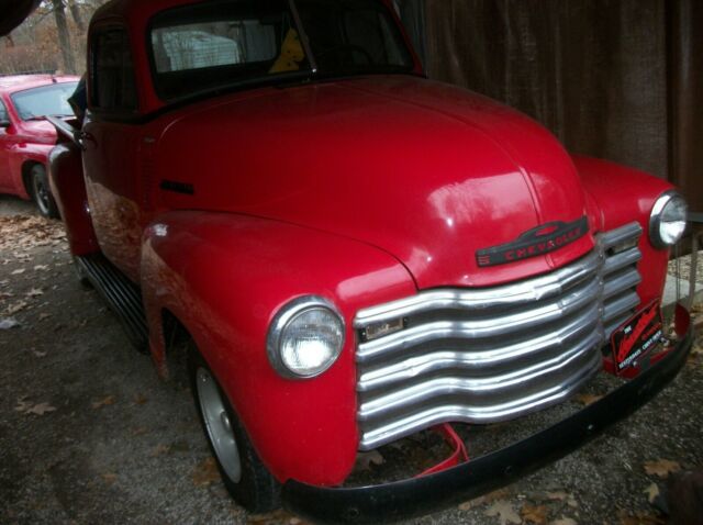
[[[670,472],[703,466],[700,344],[673,384],[592,444],[413,523],[665,523],[649,498]],[[190,393],[160,381],[97,293],[79,286],[60,223],[2,197],[0,357],[0,524],[303,523],[282,512],[247,516],[227,498]],[[478,434],[500,442],[491,432]],[[386,476],[376,462],[413,446],[367,457],[359,479]],[[411,453],[405,467],[421,467]]]

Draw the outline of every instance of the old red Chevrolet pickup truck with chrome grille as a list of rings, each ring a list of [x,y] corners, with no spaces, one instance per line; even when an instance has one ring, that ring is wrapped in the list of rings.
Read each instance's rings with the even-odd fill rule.
[[[232,495],[315,521],[479,495],[647,402],[691,346],[659,300],[685,203],[427,80],[384,0],[114,0],[52,183],[83,278],[158,370],[187,361]],[[666,333],[665,333],[666,332]],[[432,473],[359,451],[601,401]],[[455,461],[456,462],[456,461]],[[447,463],[442,467],[447,467]]]

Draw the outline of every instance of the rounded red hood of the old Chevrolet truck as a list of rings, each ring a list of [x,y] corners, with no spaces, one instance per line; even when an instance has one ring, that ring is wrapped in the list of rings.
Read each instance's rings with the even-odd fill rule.
[[[569,155],[540,125],[420,78],[203,102],[168,125],[155,155],[161,180],[192,186],[192,194],[161,191],[166,206],[243,213],[361,241],[394,256],[420,289],[499,284],[593,247],[587,233],[546,255],[480,266],[479,250],[584,217],[584,192]]]

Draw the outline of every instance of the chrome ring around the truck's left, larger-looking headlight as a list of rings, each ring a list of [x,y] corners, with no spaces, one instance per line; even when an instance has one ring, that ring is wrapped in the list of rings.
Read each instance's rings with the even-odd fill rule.
[[[283,356],[282,345],[287,337],[287,331],[290,329],[302,315],[314,311],[330,315],[330,320],[336,323],[336,329],[341,333],[339,344],[336,348],[333,348],[330,358],[326,359],[323,365],[310,371],[295,370],[286,361]],[[271,366],[280,376],[287,379],[312,379],[327,371],[337,361],[344,349],[345,336],[346,325],[344,316],[337,308],[325,298],[305,295],[290,301],[278,311],[268,329],[266,350]]]

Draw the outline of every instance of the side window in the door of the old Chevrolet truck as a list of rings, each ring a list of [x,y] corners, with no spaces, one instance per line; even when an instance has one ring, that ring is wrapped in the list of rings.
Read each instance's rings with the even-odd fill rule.
[[[91,107],[110,112],[135,111],[136,83],[126,31],[99,31],[92,40],[91,57]]]

